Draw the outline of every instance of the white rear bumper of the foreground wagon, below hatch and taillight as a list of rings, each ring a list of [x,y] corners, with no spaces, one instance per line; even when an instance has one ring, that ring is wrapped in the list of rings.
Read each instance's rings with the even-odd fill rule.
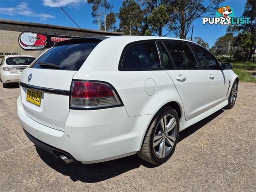
[[[124,106],[102,110],[70,110],[64,131],[60,131],[29,118],[20,97],[17,105],[22,127],[30,136],[50,146],[50,149],[44,148],[51,153],[58,148],[82,163],[103,162],[136,154],[154,116],[130,118]]]

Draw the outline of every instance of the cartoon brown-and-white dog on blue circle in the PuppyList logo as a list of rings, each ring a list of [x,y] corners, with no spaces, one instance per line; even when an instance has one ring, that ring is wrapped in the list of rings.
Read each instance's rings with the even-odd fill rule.
[[[219,14],[218,14],[219,13]],[[231,17],[234,18],[234,10],[230,6],[221,6],[217,9],[216,17],[221,18],[221,25],[231,25]],[[224,19],[223,19],[224,18]]]

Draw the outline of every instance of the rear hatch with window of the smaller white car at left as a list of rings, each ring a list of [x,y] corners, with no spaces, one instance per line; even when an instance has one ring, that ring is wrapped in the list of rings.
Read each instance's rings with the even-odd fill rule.
[[[10,74],[21,74],[36,58],[34,57],[9,57],[6,59]]]

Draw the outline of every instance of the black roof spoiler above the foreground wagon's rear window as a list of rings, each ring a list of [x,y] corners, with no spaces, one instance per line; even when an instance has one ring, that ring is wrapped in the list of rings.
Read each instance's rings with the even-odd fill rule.
[[[69,44],[77,44],[77,43],[99,43],[107,38],[108,37],[105,37],[105,36],[74,38],[74,39],[57,42],[53,46],[56,47],[61,45],[69,45]]]

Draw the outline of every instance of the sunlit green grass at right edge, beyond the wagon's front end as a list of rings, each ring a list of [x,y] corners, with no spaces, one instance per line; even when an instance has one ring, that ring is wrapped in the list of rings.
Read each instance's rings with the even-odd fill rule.
[[[236,61],[230,58],[224,58],[222,56],[216,56],[220,62],[229,62],[233,65],[233,71],[238,75],[241,82],[254,82],[256,83],[256,78],[252,75],[256,74],[256,62],[254,61]]]

